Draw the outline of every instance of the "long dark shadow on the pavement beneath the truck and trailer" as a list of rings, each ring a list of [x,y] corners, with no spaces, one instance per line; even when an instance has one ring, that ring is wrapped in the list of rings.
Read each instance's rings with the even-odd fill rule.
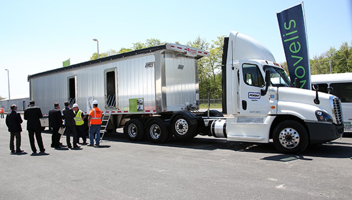
[[[212,138],[212,137],[196,137],[189,141],[179,141],[173,138],[169,142],[163,144],[155,144],[150,141],[132,142],[123,133],[106,133],[102,142],[115,141],[125,143],[139,143],[146,145],[155,146],[167,146],[177,148],[189,148],[189,149],[203,149],[203,150],[215,150],[215,149],[227,149],[233,151],[248,151],[253,153],[271,153],[276,154],[274,156],[264,157],[263,160],[273,160],[287,162],[291,160],[306,160],[312,159],[305,158],[304,156],[311,157],[330,157],[330,158],[351,158],[352,157],[352,143],[332,141],[330,144],[316,144],[308,146],[305,151],[297,155],[283,155],[279,154],[274,144],[270,143],[249,143],[249,142],[232,142],[227,141],[223,138]]]

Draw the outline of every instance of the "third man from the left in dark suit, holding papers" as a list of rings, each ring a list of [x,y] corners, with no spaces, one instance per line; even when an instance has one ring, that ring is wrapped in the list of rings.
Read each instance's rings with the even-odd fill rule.
[[[60,147],[59,129],[62,126],[62,116],[59,103],[54,103],[54,108],[49,111],[49,130],[51,130],[51,147]]]

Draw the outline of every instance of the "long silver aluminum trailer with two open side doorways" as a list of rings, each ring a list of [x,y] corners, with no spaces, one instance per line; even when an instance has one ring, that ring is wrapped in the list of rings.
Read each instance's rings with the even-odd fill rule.
[[[109,130],[130,118],[158,115],[170,119],[175,112],[198,108],[197,60],[208,55],[200,49],[166,43],[61,67],[28,76],[30,98],[42,109],[43,127],[48,126],[45,117],[54,102],[63,105],[70,99],[84,114],[89,113],[89,99],[98,100],[103,111],[108,109],[108,100],[115,102],[107,110],[113,115]]]

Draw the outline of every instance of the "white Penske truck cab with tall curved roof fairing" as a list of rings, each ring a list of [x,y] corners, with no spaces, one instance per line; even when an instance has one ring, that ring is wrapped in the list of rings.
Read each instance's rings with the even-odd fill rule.
[[[224,40],[223,113],[230,114],[229,141],[268,143],[282,153],[299,153],[308,144],[343,133],[340,100],[325,93],[294,88],[282,66],[259,41],[232,31]],[[220,120],[221,121],[221,120]],[[220,129],[212,129],[214,132]]]

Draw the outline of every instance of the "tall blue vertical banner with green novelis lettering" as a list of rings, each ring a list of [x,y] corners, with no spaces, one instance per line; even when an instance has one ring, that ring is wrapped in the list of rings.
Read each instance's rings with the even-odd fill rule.
[[[276,13],[291,82],[310,90],[310,66],[303,2]]]

